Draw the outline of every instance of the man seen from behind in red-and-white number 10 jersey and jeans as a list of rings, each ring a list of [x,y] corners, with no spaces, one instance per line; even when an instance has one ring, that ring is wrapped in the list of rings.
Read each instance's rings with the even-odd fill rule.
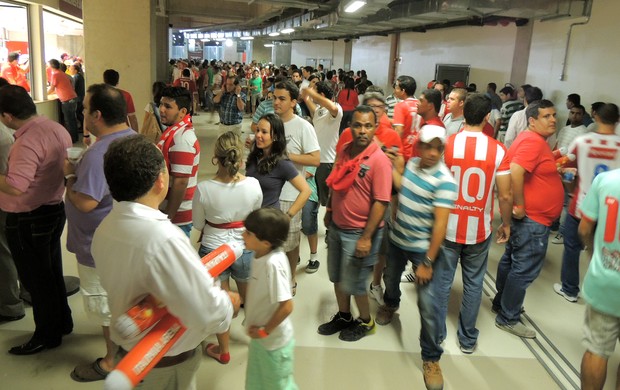
[[[491,99],[477,93],[465,99],[464,103],[460,105],[459,113],[465,117],[463,130],[448,138],[444,153],[446,166],[452,171],[460,190],[454,208],[450,210],[442,248],[446,261],[437,265],[444,268],[444,274],[449,279],[443,279],[439,284],[437,300],[441,314],[440,340],[443,340],[446,338],[448,298],[460,259],[463,300],[457,337],[461,351],[470,354],[476,349],[480,333],[476,329],[476,320],[491,246],[495,184],[502,217],[497,231],[498,243],[506,242],[510,237],[512,193],[506,147],[482,133],[491,112]],[[454,114],[454,111],[451,113]]]

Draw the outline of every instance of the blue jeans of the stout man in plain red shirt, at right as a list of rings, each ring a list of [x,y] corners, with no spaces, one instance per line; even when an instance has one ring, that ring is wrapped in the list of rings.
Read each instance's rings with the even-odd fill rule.
[[[547,253],[548,226],[528,217],[512,219],[510,240],[497,267],[497,295],[493,308],[499,324],[516,324],[521,318],[525,290],[538,277]]]

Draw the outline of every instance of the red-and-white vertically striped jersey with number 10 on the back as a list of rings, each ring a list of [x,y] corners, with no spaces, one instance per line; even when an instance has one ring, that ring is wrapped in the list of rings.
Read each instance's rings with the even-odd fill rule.
[[[506,147],[484,133],[465,130],[448,138],[444,159],[459,186],[446,239],[483,242],[491,234],[495,176],[510,174]]]

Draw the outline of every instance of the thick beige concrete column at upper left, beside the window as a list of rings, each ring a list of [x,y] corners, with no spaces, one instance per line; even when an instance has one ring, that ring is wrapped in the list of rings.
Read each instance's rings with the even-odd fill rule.
[[[120,73],[119,88],[131,93],[138,124],[151,101],[158,64],[156,28],[151,0],[84,1],[86,86],[103,82],[103,71]],[[122,28],[121,28],[122,27]]]

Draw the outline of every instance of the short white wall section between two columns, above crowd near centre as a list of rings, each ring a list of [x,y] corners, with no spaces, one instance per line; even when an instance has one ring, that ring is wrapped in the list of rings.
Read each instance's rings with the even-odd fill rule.
[[[387,88],[390,61],[390,37],[370,36],[353,41],[351,70],[365,70],[368,80]]]

